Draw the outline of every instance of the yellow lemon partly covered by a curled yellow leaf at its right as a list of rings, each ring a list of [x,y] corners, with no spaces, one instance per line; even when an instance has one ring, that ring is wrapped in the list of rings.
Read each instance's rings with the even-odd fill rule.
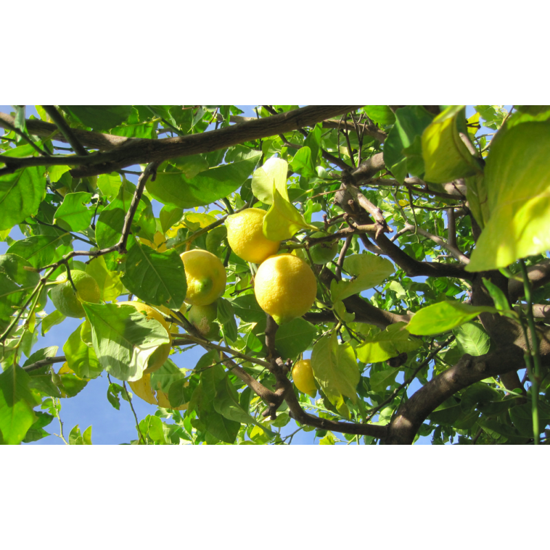
[[[279,241],[266,239],[262,232],[264,217],[265,210],[246,208],[225,220],[231,249],[247,262],[262,263],[279,250]]]

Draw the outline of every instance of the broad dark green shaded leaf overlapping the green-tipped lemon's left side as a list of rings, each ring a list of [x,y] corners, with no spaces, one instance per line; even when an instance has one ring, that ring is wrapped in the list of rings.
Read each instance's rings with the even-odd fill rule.
[[[179,309],[184,304],[185,268],[176,250],[157,252],[136,243],[126,256],[126,272],[121,279],[132,294],[148,304],[169,309]]]

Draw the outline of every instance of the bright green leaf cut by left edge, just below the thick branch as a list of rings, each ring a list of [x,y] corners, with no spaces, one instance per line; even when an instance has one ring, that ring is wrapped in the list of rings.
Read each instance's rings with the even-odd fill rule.
[[[30,166],[0,176],[0,230],[11,229],[35,214],[46,194],[44,168]]]

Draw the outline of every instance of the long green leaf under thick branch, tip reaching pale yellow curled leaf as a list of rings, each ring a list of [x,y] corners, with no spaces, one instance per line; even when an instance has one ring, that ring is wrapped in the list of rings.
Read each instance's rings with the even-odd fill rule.
[[[204,206],[236,191],[250,176],[260,157],[257,151],[248,159],[209,168],[192,178],[179,172],[159,172],[155,181],[147,181],[146,189],[157,201],[169,206]]]

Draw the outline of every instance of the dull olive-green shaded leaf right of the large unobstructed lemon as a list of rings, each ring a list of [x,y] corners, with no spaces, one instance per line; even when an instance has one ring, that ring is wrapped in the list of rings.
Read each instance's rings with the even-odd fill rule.
[[[395,271],[391,261],[374,254],[346,256],[343,267],[344,271],[354,278],[351,281],[342,280],[340,283],[331,281],[333,303],[380,285]]]

